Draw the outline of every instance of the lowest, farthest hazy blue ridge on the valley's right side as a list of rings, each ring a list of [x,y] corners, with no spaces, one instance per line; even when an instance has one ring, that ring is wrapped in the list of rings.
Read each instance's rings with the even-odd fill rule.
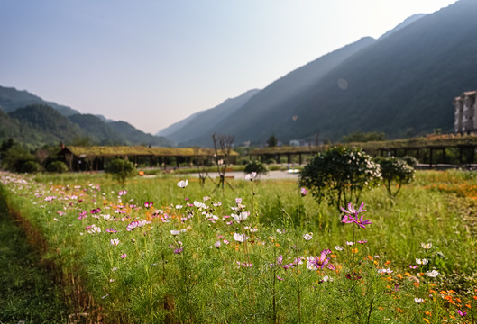
[[[162,130],[162,133],[173,130],[167,135],[167,138],[179,143],[180,146],[210,146],[214,127],[240,109],[243,104],[259,92],[260,90],[253,89],[238,97],[227,99],[214,108],[195,113],[187,119],[171,125],[168,129]],[[196,138],[202,140],[196,141],[194,140]]]

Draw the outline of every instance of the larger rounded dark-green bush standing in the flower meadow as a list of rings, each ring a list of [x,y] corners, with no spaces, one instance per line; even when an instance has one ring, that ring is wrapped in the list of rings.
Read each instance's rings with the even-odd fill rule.
[[[380,166],[360,148],[329,148],[318,153],[303,168],[299,185],[311,191],[318,202],[326,198],[336,208],[348,202],[358,203],[362,189],[376,184]]]

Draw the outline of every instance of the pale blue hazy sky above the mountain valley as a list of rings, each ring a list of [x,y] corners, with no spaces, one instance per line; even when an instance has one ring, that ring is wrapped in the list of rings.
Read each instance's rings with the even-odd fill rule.
[[[155,134],[455,0],[0,0],[0,85]]]

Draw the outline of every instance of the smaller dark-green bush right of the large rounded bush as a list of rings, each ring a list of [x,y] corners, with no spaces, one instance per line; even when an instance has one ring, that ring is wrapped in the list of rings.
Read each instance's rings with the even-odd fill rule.
[[[408,184],[414,179],[414,168],[403,159],[380,157],[376,161],[381,166],[382,182],[391,197],[396,197],[402,184]],[[395,192],[392,192],[393,187],[397,188]]]

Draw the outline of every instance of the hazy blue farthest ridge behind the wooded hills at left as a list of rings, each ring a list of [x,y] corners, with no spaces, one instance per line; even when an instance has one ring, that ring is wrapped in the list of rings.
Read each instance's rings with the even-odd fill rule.
[[[27,91],[20,91],[13,87],[0,86],[0,109],[2,109],[4,112],[13,112],[15,109],[23,108],[35,103],[49,105],[60,112],[63,116],[79,113],[67,106],[44,101],[39,96],[30,94]]]

